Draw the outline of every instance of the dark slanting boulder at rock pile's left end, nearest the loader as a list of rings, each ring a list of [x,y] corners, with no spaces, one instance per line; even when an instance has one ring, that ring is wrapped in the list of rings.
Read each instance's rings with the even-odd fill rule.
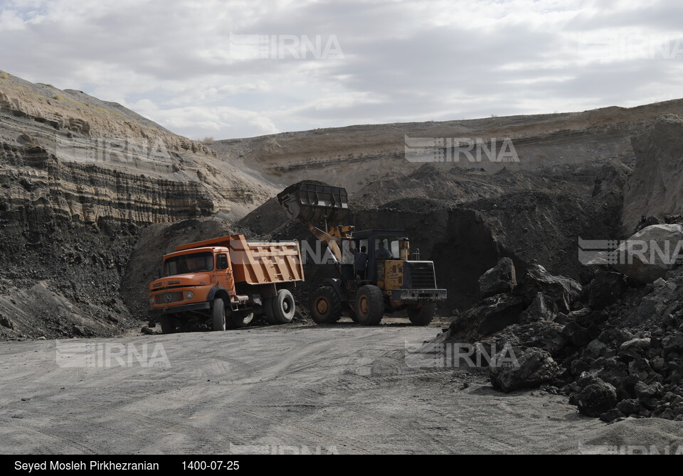
[[[449,328],[448,340],[475,342],[508,325],[519,323],[524,303],[519,296],[499,294],[486,298],[460,314]]]

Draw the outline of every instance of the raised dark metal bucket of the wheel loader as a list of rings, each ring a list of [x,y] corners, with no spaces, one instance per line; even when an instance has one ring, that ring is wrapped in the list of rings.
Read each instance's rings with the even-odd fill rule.
[[[293,220],[339,223],[349,215],[349,196],[342,187],[300,182],[282,190],[277,200]]]

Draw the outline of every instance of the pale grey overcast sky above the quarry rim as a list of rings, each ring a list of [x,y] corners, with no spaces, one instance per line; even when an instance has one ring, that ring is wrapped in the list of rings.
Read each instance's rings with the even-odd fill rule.
[[[683,97],[683,2],[0,0],[0,69],[191,139]]]

